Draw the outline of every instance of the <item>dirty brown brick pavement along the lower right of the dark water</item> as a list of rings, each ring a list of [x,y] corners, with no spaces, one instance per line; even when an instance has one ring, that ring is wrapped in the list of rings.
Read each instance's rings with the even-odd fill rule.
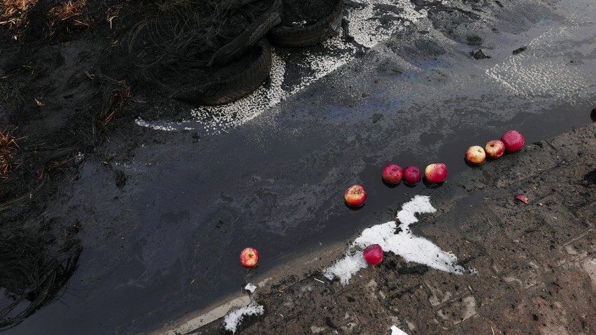
[[[437,214],[420,214],[416,234],[473,272],[439,271],[385,252],[381,264],[347,285],[313,273],[257,289],[248,301],[264,313],[243,318],[236,334],[395,335],[393,327],[406,334],[593,334],[595,148],[593,123],[464,171],[443,194],[424,192]],[[190,334],[230,334],[224,327],[220,318]]]

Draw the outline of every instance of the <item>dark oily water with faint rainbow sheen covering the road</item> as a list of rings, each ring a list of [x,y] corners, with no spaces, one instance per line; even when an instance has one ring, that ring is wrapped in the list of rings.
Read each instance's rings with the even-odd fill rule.
[[[389,162],[421,169],[444,162],[455,180],[469,173],[463,155],[470,145],[508,129],[532,143],[587,124],[596,100],[596,9],[590,1],[555,2],[502,1],[481,10],[458,3],[479,17],[453,27],[441,26],[448,11],[422,6],[418,21],[403,20],[325,76],[285,69],[283,99],[247,98],[257,101],[247,108],[263,109],[234,127],[199,111],[179,131],[139,127],[139,148],[122,144],[131,134],[111,134],[65,187],[76,197],[57,194],[43,213],[83,222],[84,250],[68,290],[6,333],[150,332],[391,220],[416,194],[467,192],[387,187],[380,175]],[[478,48],[490,58],[469,55]],[[278,54],[286,66],[307,57]],[[317,80],[291,89],[308,76]],[[115,171],[126,177],[122,187]],[[342,195],[356,183],[369,199],[351,211]],[[248,273],[238,264],[247,246],[261,255]],[[283,273],[299,277],[323,263]]]

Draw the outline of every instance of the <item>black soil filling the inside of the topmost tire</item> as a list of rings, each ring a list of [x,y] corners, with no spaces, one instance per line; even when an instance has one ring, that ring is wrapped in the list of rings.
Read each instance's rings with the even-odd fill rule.
[[[281,24],[286,27],[314,24],[331,14],[336,6],[337,0],[285,0]]]

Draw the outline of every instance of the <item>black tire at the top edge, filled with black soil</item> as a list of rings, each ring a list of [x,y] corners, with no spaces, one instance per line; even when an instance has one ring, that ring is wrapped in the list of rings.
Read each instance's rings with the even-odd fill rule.
[[[343,0],[337,0],[332,13],[322,20],[305,27],[285,27],[280,25],[271,29],[267,38],[269,38],[271,44],[281,47],[300,48],[315,45],[329,36],[329,27],[334,22],[341,23],[341,17],[343,17]]]

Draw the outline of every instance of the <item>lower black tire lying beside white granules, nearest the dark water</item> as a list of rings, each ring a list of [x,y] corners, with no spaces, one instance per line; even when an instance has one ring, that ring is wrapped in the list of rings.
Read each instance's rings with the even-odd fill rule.
[[[222,105],[246,97],[260,87],[271,71],[271,45],[267,38],[263,38],[253,48],[259,49],[259,55],[248,69],[234,76],[219,78],[179,92],[174,98],[191,104]]]

